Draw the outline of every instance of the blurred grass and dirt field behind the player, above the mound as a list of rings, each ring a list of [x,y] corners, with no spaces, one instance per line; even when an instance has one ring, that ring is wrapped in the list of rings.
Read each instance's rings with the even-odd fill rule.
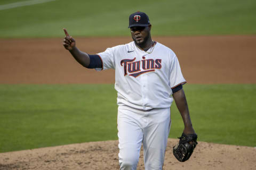
[[[1,0],[0,152],[117,140],[114,71],[76,63],[62,29],[95,54],[132,41],[137,11],[179,58],[198,140],[256,146],[256,1]]]

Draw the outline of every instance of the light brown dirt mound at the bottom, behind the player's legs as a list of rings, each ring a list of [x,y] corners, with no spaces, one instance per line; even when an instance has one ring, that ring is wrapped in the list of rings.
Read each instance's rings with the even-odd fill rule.
[[[164,169],[255,169],[256,149],[252,147],[198,142],[191,156],[180,163],[172,154],[178,142],[169,139]],[[6,152],[0,154],[0,169],[119,169],[118,141],[88,142],[73,145]],[[143,153],[137,169],[144,169]]]

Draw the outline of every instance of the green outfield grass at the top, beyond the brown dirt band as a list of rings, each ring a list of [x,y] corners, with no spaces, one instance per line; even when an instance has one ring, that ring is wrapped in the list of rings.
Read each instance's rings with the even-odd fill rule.
[[[0,38],[63,37],[63,27],[73,36],[130,36],[136,11],[149,15],[154,36],[256,33],[254,0],[57,0],[1,10]]]

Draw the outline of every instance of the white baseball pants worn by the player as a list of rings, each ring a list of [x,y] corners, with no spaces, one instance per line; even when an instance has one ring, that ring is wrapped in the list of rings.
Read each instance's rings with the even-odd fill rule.
[[[141,111],[128,106],[119,106],[117,129],[120,169],[137,168],[141,143],[143,143],[145,169],[162,169],[170,125],[170,108]]]

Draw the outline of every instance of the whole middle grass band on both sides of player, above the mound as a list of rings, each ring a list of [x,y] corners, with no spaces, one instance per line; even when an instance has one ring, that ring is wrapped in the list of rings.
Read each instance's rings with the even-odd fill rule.
[[[184,86],[199,141],[255,146],[255,84]],[[0,152],[117,140],[113,84],[0,85]],[[171,107],[170,137],[183,123]]]

